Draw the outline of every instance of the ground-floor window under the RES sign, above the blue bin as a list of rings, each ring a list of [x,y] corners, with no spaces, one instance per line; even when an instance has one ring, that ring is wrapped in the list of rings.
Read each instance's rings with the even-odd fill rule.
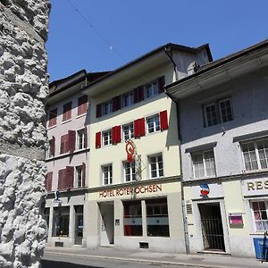
[[[255,230],[268,230],[267,201],[252,202]]]

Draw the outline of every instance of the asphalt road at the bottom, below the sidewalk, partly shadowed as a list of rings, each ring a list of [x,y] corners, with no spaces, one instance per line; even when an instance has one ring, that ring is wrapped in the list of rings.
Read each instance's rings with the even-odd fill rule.
[[[135,267],[178,268],[181,266],[171,264],[147,264],[143,262],[141,263],[128,262],[126,260],[107,260],[92,257],[49,255],[49,254],[46,254],[42,260],[42,268],[135,268]],[[187,266],[187,267],[195,268],[195,266]]]

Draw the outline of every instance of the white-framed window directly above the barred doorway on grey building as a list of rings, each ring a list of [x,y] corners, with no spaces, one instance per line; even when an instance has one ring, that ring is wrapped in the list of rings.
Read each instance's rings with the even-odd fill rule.
[[[193,170],[195,179],[214,177],[215,163],[214,151],[207,151],[192,155]]]

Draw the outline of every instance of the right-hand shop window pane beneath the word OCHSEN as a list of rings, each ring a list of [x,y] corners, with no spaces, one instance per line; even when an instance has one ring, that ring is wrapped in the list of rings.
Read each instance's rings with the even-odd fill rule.
[[[146,200],[147,236],[169,237],[169,216],[166,199]]]

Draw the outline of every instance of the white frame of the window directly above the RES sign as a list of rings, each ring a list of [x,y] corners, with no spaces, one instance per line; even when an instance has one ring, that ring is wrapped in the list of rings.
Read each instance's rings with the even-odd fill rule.
[[[257,139],[257,140],[254,140],[254,141],[248,141],[248,142],[244,142],[244,143],[241,143],[240,144],[241,151],[242,151],[242,158],[243,158],[244,169],[245,169],[246,172],[259,171],[259,170],[267,170],[268,169],[268,155],[266,153],[266,150],[264,152],[264,155],[266,156],[264,161],[265,161],[267,167],[262,168],[262,165],[261,165],[258,144],[261,143],[262,141],[268,143],[268,139],[267,138],[263,138],[263,139]],[[250,151],[250,152],[255,152],[255,159],[256,159],[257,169],[254,169],[254,168],[247,169],[247,165],[246,165],[246,161],[245,161],[245,155],[244,155],[244,152],[245,151],[243,150],[243,147],[244,146],[247,146],[247,145],[253,145],[254,146],[254,151]],[[252,166],[251,161],[249,163]]]

